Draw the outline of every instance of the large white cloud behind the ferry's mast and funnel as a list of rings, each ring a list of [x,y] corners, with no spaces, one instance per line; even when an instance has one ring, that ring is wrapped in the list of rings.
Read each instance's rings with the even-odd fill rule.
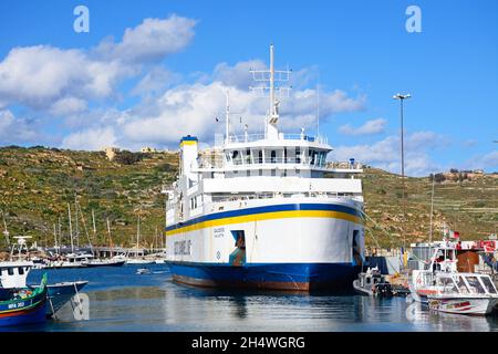
[[[224,132],[227,90],[234,113],[230,116],[231,132],[241,134],[246,124],[252,133],[262,132],[268,98],[258,97],[247,87],[238,88],[239,82],[229,80],[232,77],[231,73],[239,72],[240,67],[249,67],[249,65],[236,64],[229,67],[224,64],[217,67],[215,77],[219,77],[220,81],[178,85],[166,90],[156,100],[148,100],[146,104],[131,110],[127,113],[129,118],[120,127],[123,142],[176,146],[178,139],[185,134],[197,135],[203,140],[211,142],[215,132]],[[222,67],[222,75],[219,67]],[[282,100],[280,110],[282,131],[299,133],[301,127],[314,127],[315,95],[314,90],[303,90],[294,92],[291,98]],[[321,96],[324,102],[324,107],[321,108],[324,117],[333,113],[360,110],[364,102],[364,97],[352,98],[339,90],[322,92]],[[219,123],[216,123],[216,117],[219,117]]]

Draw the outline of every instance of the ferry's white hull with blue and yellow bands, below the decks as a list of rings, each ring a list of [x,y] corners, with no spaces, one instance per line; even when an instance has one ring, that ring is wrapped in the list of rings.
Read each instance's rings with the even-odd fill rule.
[[[315,200],[209,214],[167,227],[166,239],[174,280],[204,287],[351,288],[364,251],[360,211]]]

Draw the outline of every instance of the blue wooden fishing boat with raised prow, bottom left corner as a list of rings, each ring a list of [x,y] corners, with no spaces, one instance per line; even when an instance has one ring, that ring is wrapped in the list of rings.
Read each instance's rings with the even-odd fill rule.
[[[46,274],[37,289],[0,288],[0,326],[44,322],[46,316]]]

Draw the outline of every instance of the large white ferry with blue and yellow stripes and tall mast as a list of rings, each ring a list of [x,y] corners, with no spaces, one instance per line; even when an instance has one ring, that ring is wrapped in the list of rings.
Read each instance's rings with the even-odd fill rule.
[[[230,132],[200,152],[180,139],[178,179],[164,192],[173,279],[200,287],[311,291],[351,289],[364,260],[362,173],[326,162],[326,138],[279,131],[289,71],[251,71],[269,110],[262,134]],[[284,79],[282,79],[284,77]],[[279,84],[279,86],[277,86]],[[280,94],[280,95],[279,95]]]

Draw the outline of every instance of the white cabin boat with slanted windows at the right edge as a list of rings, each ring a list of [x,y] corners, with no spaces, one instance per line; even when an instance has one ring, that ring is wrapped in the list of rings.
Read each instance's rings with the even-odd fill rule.
[[[437,291],[427,294],[433,311],[471,315],[498,311],[498,292],[487,274],[439,273],[435,287]]]

